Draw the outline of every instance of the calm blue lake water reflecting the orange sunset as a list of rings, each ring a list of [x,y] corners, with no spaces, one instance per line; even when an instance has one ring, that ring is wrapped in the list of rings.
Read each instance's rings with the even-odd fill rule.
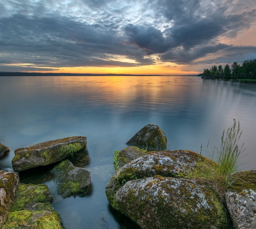
[[[136,228],[108,204],[112,153],[146,124],[158,125],[168,150],[200,153],[220,146],[233,119],[243,131],[241,170],[255,169],[256,84],[193,76],[0,77],[0,142],[11,148],[0,170],[11,168],[14,150],[72,136],[88,139],[88,155],[74,165],[92,172],[86,196],[60,198],[46,171],[20,173],[22,183],[45,183],[66,229]],[[98,227],[101,225],[100,227]]]

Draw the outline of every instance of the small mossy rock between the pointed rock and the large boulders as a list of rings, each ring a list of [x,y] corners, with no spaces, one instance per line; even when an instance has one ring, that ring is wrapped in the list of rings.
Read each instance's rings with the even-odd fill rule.
[[[146,150],[140,149],[136,146],[129,146],[120,150],[119,157],[119,167],[122,167],[128,164],[130,161],[133,161],[141,156],[146,155]]]

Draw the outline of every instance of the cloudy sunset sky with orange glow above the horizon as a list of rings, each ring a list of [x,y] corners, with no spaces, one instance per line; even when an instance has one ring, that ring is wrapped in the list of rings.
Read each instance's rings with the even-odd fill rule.
[[[1,0],[0,9],[0,71],[188,75],[256,58],[255,0]]]

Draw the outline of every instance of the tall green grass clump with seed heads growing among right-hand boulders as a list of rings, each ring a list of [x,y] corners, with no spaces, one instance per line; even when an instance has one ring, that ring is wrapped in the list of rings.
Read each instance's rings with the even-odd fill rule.
[[[225,191],[236,179],[233,174],[238,172],[240,166],[239,159],[245,150],[243,149],[244,143],[241,148],[238,147],[241,134],[240,124],[238,122],[237,126],[236,120],[234,119],[233,126],[228,128],[226,133],[225,130],[222,133],[221,145],[220,149],[217,148],[216,157],[214,156],[216,149],[214,147],[210,159],[215,161],[216,164],[209,165],[207,160],[198,161],[198,167],[192,172],[193,177],[203,178],[209,181],[219,193],[222,200]]]

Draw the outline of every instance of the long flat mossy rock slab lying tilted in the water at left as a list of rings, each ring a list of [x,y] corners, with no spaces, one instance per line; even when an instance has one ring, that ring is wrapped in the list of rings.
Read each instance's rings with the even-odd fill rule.
[[[86,137],[67,137],[47,141],[15,150],[12,159],[13,170],[21,172],[38,166],[49,165],[86,150]]]

